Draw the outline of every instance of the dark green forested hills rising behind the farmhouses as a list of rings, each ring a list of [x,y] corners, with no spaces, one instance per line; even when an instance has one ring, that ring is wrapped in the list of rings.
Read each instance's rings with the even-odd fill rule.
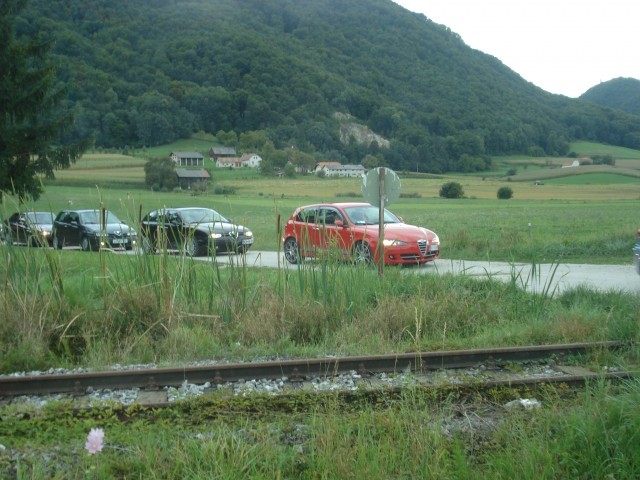
[[[97,146],[261,131],[276,148],[431,172],[573,139],[640,148],[640,117],[547,93],[391,0],[28,0],[16,31],[55,41],[76,134]],[[341,142],[336,112],[390,147]]]

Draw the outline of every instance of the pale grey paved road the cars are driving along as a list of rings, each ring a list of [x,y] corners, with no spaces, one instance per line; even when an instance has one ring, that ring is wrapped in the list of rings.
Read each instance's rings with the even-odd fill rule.
[[[207,258],[204,257],[203,260]],[[296,268],[287,263],[284,256],[278,255],[277,252],[249,251],[245,256],[220,255],[217,261],[249,267]],[[533,275],[531,270],[531,265],[525,263],[438,259],[420,267],[405,268],[403,272],[425,275],[455,273],[474,277],[491,276],[507,282],[515,280],[520,287],[529,291],[549,293],[553,291],[559,293],[579,285],[602,291],[640,293],[640,275],[633,268],[631,255],[629,255],[629,265],[541,264],[537,265]]]

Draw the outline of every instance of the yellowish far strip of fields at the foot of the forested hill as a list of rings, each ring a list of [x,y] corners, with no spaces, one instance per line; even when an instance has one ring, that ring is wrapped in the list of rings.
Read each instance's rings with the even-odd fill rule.
[[[130,152],[130,155],[88,153],[70,169],[56,172],[52,185],[90,188],[120,187],[144,190],[144,163],[149,158],[166,157],[172,151],[198,151],[205,155],[205,168],[213,185],[233,189],[238,197],[265,196],[298,198],[304,202],[334,201],[340,197],[360,196],[359,179],[322,179],[312,175],[296,178],[264,178],[249,170],[217,169],[209,160],[211,141],[206,136],[171,145]],[[588,142],[572,145],[580,157],[611,155],[615,166],[562,168],[573,159],[559,157],[508,156],[493,159],[495,169],[478,175],[425,175],[397,172],[402,194],[438,199],[443,183],[457,181],[469,199],[496,199],[502,186],[509,186],[518,200],[611,201],[640,199],[640,152]],[[516,174],[508,175],[515,170]],[[536,183],[542,183],[536,184]],[[588,186],[588,188],[583,188]],[[184,196],[184,194],[182,195]],[[174,198],[179,198],[175,195]],[[181,200],[180,200],[181,201]],[[56,206],[56,208],[58,208]]]

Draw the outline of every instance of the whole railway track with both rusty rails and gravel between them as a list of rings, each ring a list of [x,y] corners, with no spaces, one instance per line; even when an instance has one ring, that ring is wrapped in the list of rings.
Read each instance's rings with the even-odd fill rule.
[[[581,385],[593,378],[629,378],[631,372],[593,371],[576,366],[576,357],[620,350],[620,342],[538,345],[480,350],[416,352],[396,355],[307,358],[272,362],[226,363],[182,368],[140,368],[67,374],[0,376],[0,405],[25,397],[55,396],[90,404],[100,392],[129,392],[123,403],[164,406],[188,392],[203,394],[220,388],[235,393],[293,389],[355,389],[395,387],[411,378],[425,387],[448,383],[494,388],[538,383]],[[262,390],[260,385],[267,387]],[[335,387],[335,388],[334,388]],[[174,393],[172,396],[171,393]],[[176,392],[178,394],[176,395]],[[180,394],[182,392],[182,394]],[[96,396],[96,394],[98,394]],[[114,394],[115,398],[122,395]]]

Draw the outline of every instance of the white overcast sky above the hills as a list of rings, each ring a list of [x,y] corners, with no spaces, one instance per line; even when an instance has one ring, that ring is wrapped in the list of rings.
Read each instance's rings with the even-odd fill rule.
[[[458,33],[525,80],[578,97],[640,80],[640,0],[394,0]]]

